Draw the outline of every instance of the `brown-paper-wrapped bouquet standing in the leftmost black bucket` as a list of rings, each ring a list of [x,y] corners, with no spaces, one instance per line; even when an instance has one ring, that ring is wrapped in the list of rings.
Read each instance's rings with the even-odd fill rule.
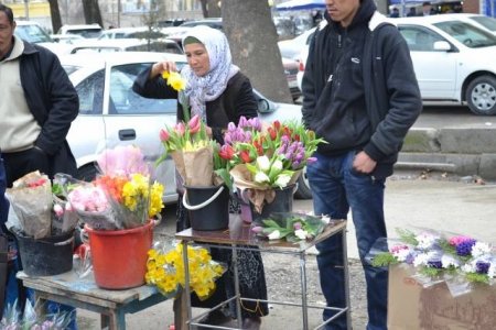
[[[26,237],[50,237],[52,228],[52,184],[46,175],[32,172],[15,180],[6,196]]]

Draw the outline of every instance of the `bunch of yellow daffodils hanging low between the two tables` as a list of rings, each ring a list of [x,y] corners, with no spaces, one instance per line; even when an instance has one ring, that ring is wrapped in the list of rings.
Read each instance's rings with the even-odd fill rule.
[[[165,296],[185,286],[183,244],[172,249],[158,243],[148,253],[145,282],[154,285]],[[187,245],[190,288],[200,299],[208,298],[215,290],[215,280],[223,275],[225,266],[212,260],[205,248]]]

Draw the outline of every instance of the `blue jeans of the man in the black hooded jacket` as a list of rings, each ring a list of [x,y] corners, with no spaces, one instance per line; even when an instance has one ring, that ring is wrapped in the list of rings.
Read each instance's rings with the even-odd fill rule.
[[[358,253],[367,283],[367,329],[387,329],[388,273],[365,261],[374,242],[387,235],[384,220],[385,179],[375,179],[354,170],[352,165],[355,152],[332,157],[315,153],[314,156],[317,162],[306,167],[314,212],[331,216],[332,219],[346,219],[349,208],[352,209]],[[345,307],[343,237],[333,235],[316,248],[321,287],[327,306]],[[324,310],[324,320],[334,314]],[[347,329],[346,326],[344,315],[330,322],[325,329]]]

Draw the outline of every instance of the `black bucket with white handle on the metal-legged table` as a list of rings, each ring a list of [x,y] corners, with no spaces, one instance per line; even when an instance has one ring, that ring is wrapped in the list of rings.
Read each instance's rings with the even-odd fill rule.
[[[229,228],[229,190],[226,186],[185,186],[183,205],[190,212],[191,228],[213,231]]]

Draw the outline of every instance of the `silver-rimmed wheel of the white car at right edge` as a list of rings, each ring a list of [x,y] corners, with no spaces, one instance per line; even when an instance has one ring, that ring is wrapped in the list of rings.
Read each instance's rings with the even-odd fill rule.
[[[475,114],[496,114],[496,79],[492,76],[481,76],[468,84],[466,88],[468,108]]]

